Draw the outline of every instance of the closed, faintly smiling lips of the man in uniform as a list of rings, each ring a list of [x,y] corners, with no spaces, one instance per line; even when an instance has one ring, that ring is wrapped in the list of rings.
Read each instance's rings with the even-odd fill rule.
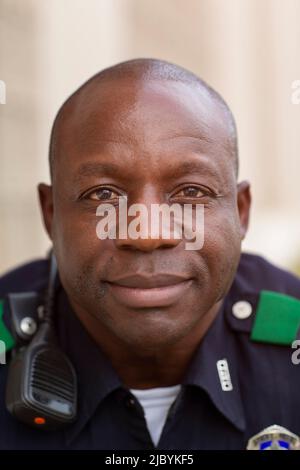
[[[168,307],[182,299],[192,282],[192,278],[170,274],[106,281],[114,299],[130,308]]]

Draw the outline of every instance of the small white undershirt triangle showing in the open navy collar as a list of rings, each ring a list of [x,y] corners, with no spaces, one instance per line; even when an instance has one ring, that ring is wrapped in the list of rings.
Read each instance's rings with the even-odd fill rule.
[[[152,441],[158,444],[168,411],[180,392],[180,385],[173,387],[148,388],[146,390],[131,389],[144,409],[145,419]]]

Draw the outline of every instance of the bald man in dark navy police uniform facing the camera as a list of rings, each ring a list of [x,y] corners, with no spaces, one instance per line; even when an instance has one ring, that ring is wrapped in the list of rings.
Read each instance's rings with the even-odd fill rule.
[[[39,196],[59,272],[56,331],[76,370],[78,412],[49,432],[43,421],[31,428],[11,416],[8,360],[0,368],[0,448],[296,446],[300,375],[291,344],[300,282],[241,256],[250,189],[237,183],[236,129],[222,98],[176,65],[118,64],[60,109],[50,169],[51,186],[40,184]],[[122,198],[149,210],[201,205],[203,246],[187,250],[184,237],[150,230],[101,239],[98,208],[118,212]],[[7,294],[43,292],[48,265],[0,280],[3,337],[12,331]],[[272,425],[284,428],[280,442],[271,430],[263,445],[249,443]]]

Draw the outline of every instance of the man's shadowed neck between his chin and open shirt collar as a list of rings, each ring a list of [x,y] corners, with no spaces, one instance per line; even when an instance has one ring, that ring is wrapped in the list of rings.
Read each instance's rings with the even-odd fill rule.
[[[217,302],[197,326],[175,344],[137,351],[137,348],[128,346],[113,335],[97,318],[71,303],[80,322],[109,358],[124,385],[135,389],[168,387],[181,383],[221,304],[222,301]]]

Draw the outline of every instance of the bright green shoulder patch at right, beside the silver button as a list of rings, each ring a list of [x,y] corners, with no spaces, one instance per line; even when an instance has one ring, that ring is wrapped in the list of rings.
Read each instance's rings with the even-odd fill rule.
[[[251,340],[291,345],[300,327],[300,300],[263,290],[260,293]]]

